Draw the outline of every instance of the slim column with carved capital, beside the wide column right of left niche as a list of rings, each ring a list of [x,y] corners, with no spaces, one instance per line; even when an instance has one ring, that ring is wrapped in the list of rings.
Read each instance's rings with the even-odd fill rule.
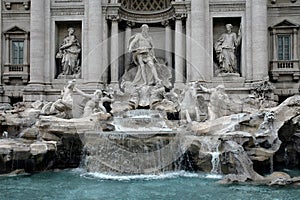
[[[111,18],[111,47],[110,47],[110,74],[111,83],[117,84],[119,81],[119,17]]]

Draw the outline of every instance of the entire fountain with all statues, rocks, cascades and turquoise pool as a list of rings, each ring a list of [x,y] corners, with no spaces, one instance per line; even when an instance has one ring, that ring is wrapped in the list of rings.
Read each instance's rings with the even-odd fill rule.
[[[215,48],[219,73],[236,76],[235,55],[221,44],[240,44],[231,28]],[[244,98],[223,84],[175,88],[146,24],[130,38],[132,63],[117,87],[86,93],[68,30],[56,55],[69,78],[60,98],[2,104],[0,199],[299,197],[300,96],[278,105],[267,78]]]

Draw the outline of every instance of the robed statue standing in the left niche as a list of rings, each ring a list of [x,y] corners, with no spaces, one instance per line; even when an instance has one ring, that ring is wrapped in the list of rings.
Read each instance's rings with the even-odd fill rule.
[[[79,78],[81,74],[80,66],[80,52],[81,46],[74,35],[75,29],[68,28],[69,34],[64,38],[62,44],[59,47],[59,51],[56,54],[56,58],[59,59],[62,66],[62,72],[58,78],[64,78],[70,76],[72,78]]]

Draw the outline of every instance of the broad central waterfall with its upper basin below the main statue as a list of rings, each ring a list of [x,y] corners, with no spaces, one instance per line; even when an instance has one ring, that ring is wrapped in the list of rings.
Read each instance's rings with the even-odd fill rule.
[[[158,111],[127,111],[123,116],[115,116],[113,124],[116,131],[84,134],[87,171],[125,174],[170,171],[184,154],[181,133],[167,124]]]

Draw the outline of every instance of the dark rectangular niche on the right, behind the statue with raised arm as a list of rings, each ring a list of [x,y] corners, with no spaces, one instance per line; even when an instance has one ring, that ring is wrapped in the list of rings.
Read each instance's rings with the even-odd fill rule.
[[[241,76],[241,46],[242,46],[242,32],[240,35],[240,40],[238,45],[235,45],[234,55],[236,57],[236,66],[232,67],[224,62],[224,56],[232,58],[232,55],[229,51],[224,52],[224,54],[220,54],[221,46],[222,46],[222,35],[227,33],[226,24],[232,25],[232,33],[236,34],[236,38],[238,39],[238,32],[241,26],[241,17],[215,17],[213,18],[213,62],[214,62],[214,76],[222,76],[222,75],[233,75],[233,76]],[[226,34],[225,34],[226,35]],[[223,35],[223,36],[225,36]],[[230,38],[230,37],[229,37]],[[229,49],[229,48],[228,48]],[[222,51],[221,51],[222,52]],[[229,53],[228,53],[229,52]],[[221,55],[221,56],[220,56]],[[226,61],[231,62],[232,59],[228,59]],[[223,64],[225,63],[225,64]]]

